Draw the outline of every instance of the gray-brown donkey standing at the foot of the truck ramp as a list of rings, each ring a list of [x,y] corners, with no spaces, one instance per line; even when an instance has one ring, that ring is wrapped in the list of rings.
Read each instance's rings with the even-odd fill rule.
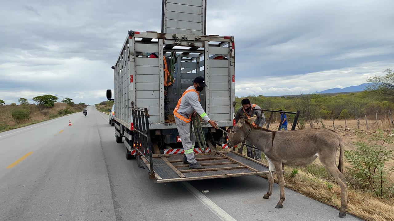
[[[284,201],[284,178],[282,165],[307,166],[317,157],[320,162],[334,177],[341,188],[341,208],[339,217],[346,215],[348,206],[348,195],[346,192],[346,179],[342,174],[344,167],[344,144],[340,136],[330,129],[302,129],[296,131],[269,131],[266,129],[253,128],[251,125],[256,117],[244,120],[240,118],[233,127],[228,139],[229,147],[234,144],[249,140],[252,145],[264,152],[269,164],[268,191],[264,194],[264,199],[268,199],[272,194],[272,184],[274,174],[278,178],[281,197],[275,208],[282,208]],[[338,167],[335,163],[335,155],[340,149]]]

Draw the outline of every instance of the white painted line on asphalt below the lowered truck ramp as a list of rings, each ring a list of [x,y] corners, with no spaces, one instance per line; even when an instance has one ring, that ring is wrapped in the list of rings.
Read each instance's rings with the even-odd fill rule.
[[[188,190],[193,196],[195,196],[201,203],[203,203],[208,209],[210,209],[219,219],[223,221],[236,221],[232,216],[230,216],[227,212],[225,212],[222,208],[217,206],[214,202],[212,202],[208,197],[206,197],[203,193],[200,193],[196,188],[191,186],[188,182],[180,182],[186,190]]]

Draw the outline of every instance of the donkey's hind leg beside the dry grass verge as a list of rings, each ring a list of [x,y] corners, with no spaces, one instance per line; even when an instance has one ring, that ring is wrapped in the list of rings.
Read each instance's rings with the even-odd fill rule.
[[[320,157],[320,162],[323,166],[330,172],[334,177],[335,181],[341,188],[341,208],[339,212],[339,217],[344,217],[346,215],[346,207],[348,207],[348,193],[346,190],[346,178],[336,167],[334,156],[332,157]]]

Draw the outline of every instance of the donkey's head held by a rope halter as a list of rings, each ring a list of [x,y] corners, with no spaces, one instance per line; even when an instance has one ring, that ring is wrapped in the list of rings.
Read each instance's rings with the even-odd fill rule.
[[[234,147],[234,145],[242,143],[247,132],[251,128],[251,124],[255,122],[256,118],[257,117],[251,117],[246,120],[240,118],[238,123],[231,130],[231,134],[227,140],[227,145],[229,147]]]

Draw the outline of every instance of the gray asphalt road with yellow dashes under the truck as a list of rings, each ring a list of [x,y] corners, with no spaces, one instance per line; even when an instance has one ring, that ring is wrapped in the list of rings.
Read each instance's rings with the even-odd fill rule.
[[[113,130],[89,106],[0,133],[0,220],[359,220],[288,189],[275,209],[278,186],[263,199],[268,182],[255,176],[155,184]]]

